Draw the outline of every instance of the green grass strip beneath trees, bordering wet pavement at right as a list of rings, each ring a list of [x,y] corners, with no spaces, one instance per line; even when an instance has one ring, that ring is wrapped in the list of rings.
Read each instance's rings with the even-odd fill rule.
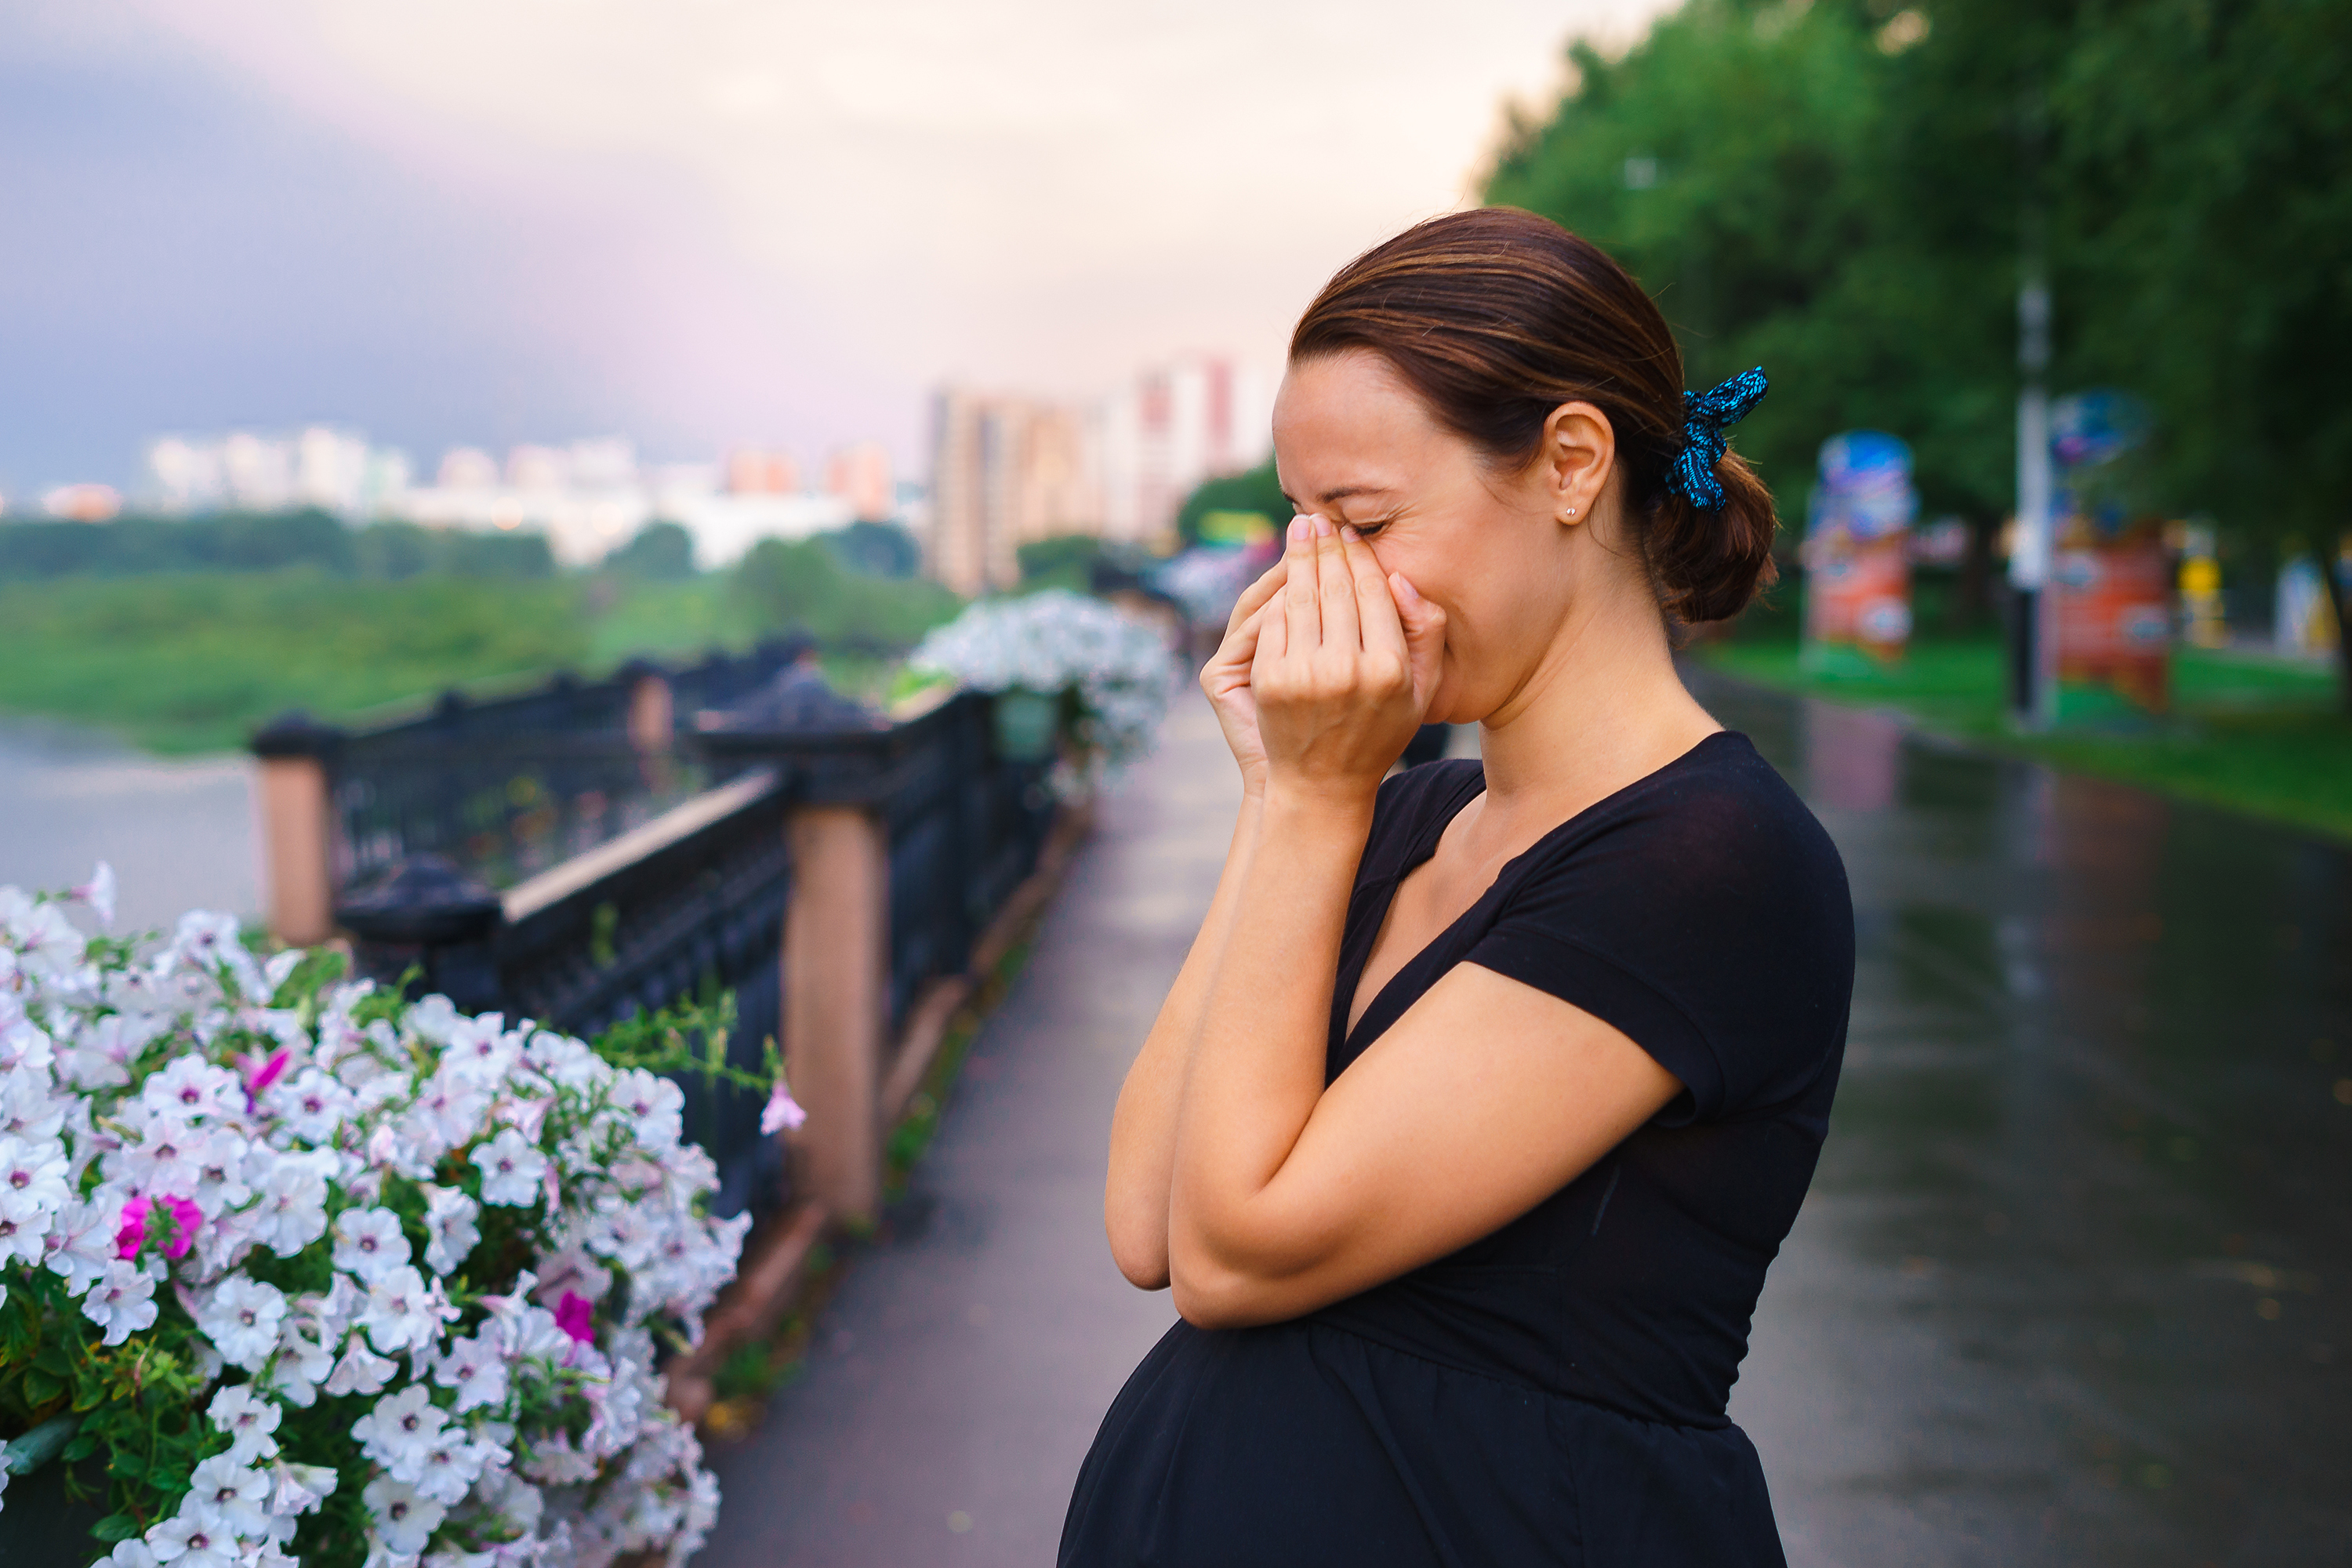
[[[1994,635],[1931,639],[1891,670],[1820,677],[1795,642],[1717,642],[1693,658],[1764,686],[1893,708],[1987,750],[2119,778],[2352,842],[2352,719],[2326,665],[2180,649],[2173,712],[2138,733],[2020,736],[2004,710]]]

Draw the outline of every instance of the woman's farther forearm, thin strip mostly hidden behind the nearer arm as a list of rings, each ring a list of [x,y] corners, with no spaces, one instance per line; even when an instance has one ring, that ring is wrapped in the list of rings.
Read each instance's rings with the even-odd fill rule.
[[[1263,804],[1244,792],[1232,823],[1225,870],[1200,922],[1200,936],[1152,1020],[1143,1048],[1127,1070],[1120,1105],[1110,1117],[1110,1180],[1103,1190],[1103,1229],[1120,1272],[1145,1291],[1169,1284],[1169,1182],[1176,1161],[1176,1110],[1185,1065],[1200,1039],[1209,983],[1232,933],[1232,914],[1249,856],[1258,844]]]

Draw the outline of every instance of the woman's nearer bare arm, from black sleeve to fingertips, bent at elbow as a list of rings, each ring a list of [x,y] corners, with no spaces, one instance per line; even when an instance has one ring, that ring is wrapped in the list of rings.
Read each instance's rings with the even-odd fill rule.
[[[1618,1030],[1475,966],[1324,1088],[1348,891],[1381,771],[1428,701],[1442,618],[1411,585],[1390,597],[1348,538],[1294,538],[1287,564],[1251,677],[1263,816],[1228,863],[1230,924],[1176,1100],[1167,1265],[1176,1309],[1202,1326],[1296,1316],[1442,1258],[1679,1091]]]

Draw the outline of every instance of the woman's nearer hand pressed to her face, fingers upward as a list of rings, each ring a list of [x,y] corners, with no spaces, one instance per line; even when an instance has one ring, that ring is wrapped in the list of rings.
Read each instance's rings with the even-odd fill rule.
[[[1444,611],[1404,574],[1383,576],[1355,529],[1294,517],[1249,663],[1268,783],[1369,799],[1428,712],[1444,630]]]

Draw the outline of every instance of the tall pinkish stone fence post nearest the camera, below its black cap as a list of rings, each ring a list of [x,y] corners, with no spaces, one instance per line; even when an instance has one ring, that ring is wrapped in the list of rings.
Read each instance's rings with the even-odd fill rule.
[[[786,816],[783,1070],[809,1112],[809,1197],[835,1218],[882,1208],[882,1051],[889,1009],[889,837],[863,806]]]

